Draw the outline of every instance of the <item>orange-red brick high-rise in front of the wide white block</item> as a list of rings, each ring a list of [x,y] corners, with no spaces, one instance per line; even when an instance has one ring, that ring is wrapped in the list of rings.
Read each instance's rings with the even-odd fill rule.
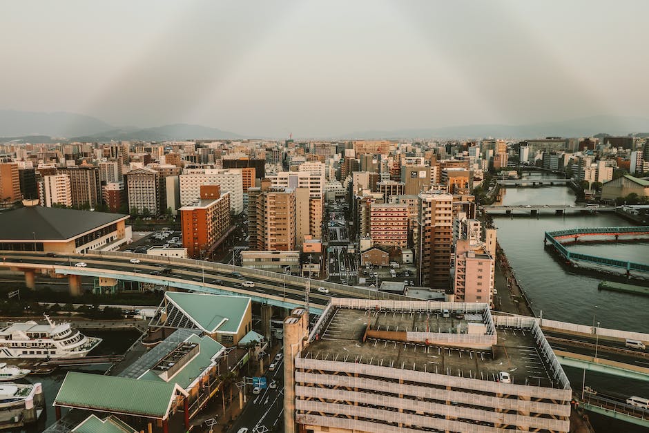
[[[221,194],[218,185],[203,185],[200,191],[200,200],[178,209],[182,246],[191,258],[211,256],[231,227],[230,193]]]

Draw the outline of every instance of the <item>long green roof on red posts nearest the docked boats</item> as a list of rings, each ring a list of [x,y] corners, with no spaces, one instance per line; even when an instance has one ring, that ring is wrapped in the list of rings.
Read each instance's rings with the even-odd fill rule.
[[[176,391],[186,394],[173,382],[68,372],[54,405],[164,419]]]

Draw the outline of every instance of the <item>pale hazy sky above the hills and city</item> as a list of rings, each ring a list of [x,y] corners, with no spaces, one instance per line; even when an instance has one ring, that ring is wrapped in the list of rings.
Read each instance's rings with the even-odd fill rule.
[[[3,1],[0,108],[296,137],[649,117],[649,1]]]

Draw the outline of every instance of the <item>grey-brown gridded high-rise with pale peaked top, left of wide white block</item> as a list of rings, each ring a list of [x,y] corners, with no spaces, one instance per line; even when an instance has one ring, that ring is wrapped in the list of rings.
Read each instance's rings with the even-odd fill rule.
[[[128,193],[128,209],[139,215],[160,214],[160,182],[159,173],[142,167],[124,174],[126,191]]]

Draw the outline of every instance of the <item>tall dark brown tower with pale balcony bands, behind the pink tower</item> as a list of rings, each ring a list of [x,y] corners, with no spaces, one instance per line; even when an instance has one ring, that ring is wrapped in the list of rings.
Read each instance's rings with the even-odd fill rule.
[[[419,194],[419,285],[449,288],[452,257],[453,195],[443,191]]]

